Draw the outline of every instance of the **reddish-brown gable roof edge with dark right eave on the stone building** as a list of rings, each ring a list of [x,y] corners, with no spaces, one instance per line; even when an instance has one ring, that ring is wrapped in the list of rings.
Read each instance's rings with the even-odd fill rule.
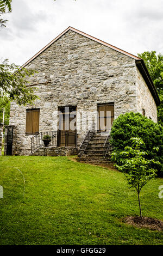
[[[94,36],[91,36],[89,34],[86,34],[86,33],[82,32],[82,31],[79,31],[78,29],[73,28],[73,27],[66,28],[65,31],[63,31],[61,34],[59,34],[56,38],[54,38],[51,42],[49,42],[49,44],[47,44],[45,47],[43,47],[32,58],[30,58],[26,63],[24,63],[22,65],[22,68],[24,68],[26,65],[28,65],[33,59],[35,59],[37,56],[39,56],[43,51],[45,51],[49,46],[51,46],[53,44],[53,42],[57,41],[59,38],[61,38],[62,35],[64,35],[68,31],[76,32],[76,33],[78,33],[80,35],[85,36],[86,38],[89,38],[89,39],[91,39],[93,41],[98,42],[99,44],[102,44],[102,45],[105,45],[107,47],[110,47],[112,50],[115,50],[115,51],[120,52],[120,53],[122,53],[122,54],[124,54],[124,55],[126,55],[126,56],[128,56],[130,58],[135,59],[136,66],[139,69],[139,71],[141,72],[144,80],[146,81],[147,86],[148,86],[149,90],[151,91],[151,93],[152,93],[152,95],[154,97],[156,105],[160,105],[160,99],[159,99],[158,93],[156,92],[156,89],[154,87],[153,81],[152,81],[152,79],[151,79],[151,77],[149,75],[149,72],[148,72],[148,70],[146,68],[146,65],[145,65],[145,62],[143,61],[143,59],[141,59],[141,58],[139,58],[139,57],[137,57],[137,56],[135,56],[135,55],[133,55],[133,54],[131,54],[129,52],[126,52],[126,51],[124,51],[124,50],[122,50],[120,48],[117,48],[116,46],[110,45],[107,42],[99,40],[99,39],[95,38]]]

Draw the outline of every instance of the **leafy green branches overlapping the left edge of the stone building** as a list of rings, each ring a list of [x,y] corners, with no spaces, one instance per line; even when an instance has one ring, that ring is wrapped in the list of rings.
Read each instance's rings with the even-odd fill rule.
[[[0,97],[7,96],[9,100],[15,101],[19,105],[32,104],[38,97],[34,94],[34,87],[27,87],[27,77],[36,71],[32,69],[20,68],[15,64],[8,64],[5,59],[0,64]]]

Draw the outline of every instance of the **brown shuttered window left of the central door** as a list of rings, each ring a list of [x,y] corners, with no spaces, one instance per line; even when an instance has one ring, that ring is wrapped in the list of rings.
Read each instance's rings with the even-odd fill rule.
[[[39,133],[40,109],[27,109],[26,115],[26,135]]]

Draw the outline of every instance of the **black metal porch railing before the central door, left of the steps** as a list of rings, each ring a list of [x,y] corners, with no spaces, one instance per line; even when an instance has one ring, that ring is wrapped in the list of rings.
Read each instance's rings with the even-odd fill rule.
[[[43,139],[49,138],[48,147],[78,147],[78,135],[70,131],[39,132],[32,137],[31,152],[37,148],[45,147]]]

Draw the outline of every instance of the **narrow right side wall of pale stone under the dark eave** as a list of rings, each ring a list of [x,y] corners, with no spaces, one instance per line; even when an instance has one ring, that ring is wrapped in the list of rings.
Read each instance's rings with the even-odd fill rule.
[[[157,123],[157,107],[153,96],[143,79],[139,69],[136,68],[136,88],[137,88],[137,112],[142,114],[142,109],[145,109],[145,116],[151,118]]]

